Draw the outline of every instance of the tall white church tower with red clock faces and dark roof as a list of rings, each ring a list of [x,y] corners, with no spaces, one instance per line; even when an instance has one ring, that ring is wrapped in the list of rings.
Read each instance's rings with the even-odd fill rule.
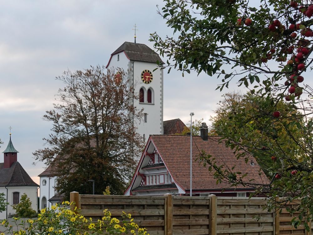
[[[139,100],[131,101],[138,110],[144,108],[142,120],[134,127],[146,142],[150,134],[163,134],[163,70],[156,69],[160,56],[145,44],[124,42],[110,57],[106,68],[121,68],[129,73],[129,85],[134,86]]]

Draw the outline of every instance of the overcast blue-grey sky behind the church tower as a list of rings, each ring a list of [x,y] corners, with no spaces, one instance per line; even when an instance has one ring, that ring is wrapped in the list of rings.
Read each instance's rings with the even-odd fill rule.
[[[66,0],[1,1],[0,8],[0,138],[9,140],[19,151],[18,161],[38,183],[44,163],[32,165],[32,152],[44,147],[42,138],[51,123],[42,119],[52,108],[54,95],[63,84],[55,77],[64,70],[82,70],[90,65],[106,65],[110,54],[125,41],[153,48],[149,35],[172,35],[165,20],[157,14],[161,0]],[[164,73],[164,120],[183,122],[204,118],[208,123],[222,93],[218,81],[206,75]],[[232,90],[238,88],[232,87]],[[225,90],[226,92],[227,90]],[[3,158],[0,162],[3,161]]]

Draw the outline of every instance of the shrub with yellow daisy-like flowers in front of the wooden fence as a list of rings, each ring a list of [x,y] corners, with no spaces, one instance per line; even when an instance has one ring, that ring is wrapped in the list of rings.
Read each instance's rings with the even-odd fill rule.
[[[104,216],[97,222],[90,218],[86,219],[80,215],[80,211],[75,207],[74,211],[68,209],[70,203],[63,202],[64,206],[51,206],[51,210],[44,208],[38,214],[38,219],[29,219],[26,224],[21,221],[18,224],[18,218],[14,218],[15,226],[9,225],[7,220],[3,220],[0,225],[4,230],[0,235],[63,235],[68,232],[73,235],[100,235],[104,232],[109,234],[138,234],[148,235],[145,228],[139,228],[133,222],[131,214],[123,212],[122,220],[111,217],[111,213],[106,209]],[[14,231],[13,227],[18,228]]]

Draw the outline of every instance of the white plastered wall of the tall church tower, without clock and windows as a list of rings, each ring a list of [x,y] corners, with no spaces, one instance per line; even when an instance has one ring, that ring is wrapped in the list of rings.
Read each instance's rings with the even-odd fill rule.
[[[145,142],[148,140],[150,134],[163,134],[163,70],[157,69],[156,62],[147,62],[132,60],[129,58],[125,51],[112,54],[107,68],[121,68],[129,73],[129,85],[128,88],[134,86],[134,91],[139,96],[139,91],[144,88],[144,102],[139,102],[138,99],[134,100],[134,107],[138,110],[144,109],[143,113],[146,113],[146,122],[144,116],[140,120],[134,120],[134,127],[137,128],[137,132],[140,134],[142,140]],[[151,71],[153,75],[152,82],[145,84],[141,80],[141,73],[144,70]],[[155,71],[153,71],[155,70]],[[147,91],[152,91],[152,102],[147,102]],[[132,100],[130,101],[132,105]],[[132,124],[132,123],[131,123]]]

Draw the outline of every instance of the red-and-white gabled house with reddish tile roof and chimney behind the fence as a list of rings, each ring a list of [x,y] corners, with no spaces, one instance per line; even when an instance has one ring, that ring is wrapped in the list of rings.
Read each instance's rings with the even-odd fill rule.
[[[221,143],[221,137],[208,136],[208,126],[203,123],[200,136],[192,136],[192,196],[249,196],[254,188],[233,187],[229,181],[216,184],[213,171],[196,160],[201,151],[210,154],[217,165],[233,167],[247,174],[246,179],[254,183],[267,182],[264,174],[259,175],[260,167],[251,157],[237,159],[233,150]],[[125,195],[175,195],[190,196],[190,136],[150,135],[143,151],[131,184]]]

